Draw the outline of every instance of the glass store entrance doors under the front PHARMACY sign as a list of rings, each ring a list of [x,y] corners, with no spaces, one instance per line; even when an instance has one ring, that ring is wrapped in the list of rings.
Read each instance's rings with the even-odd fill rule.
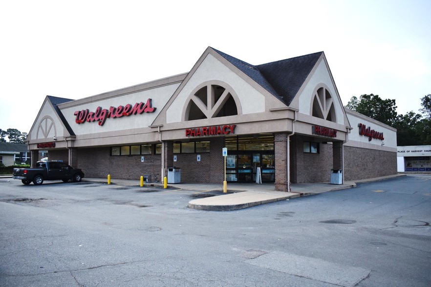
[[[226,181],[251,183],[256,177],[274,182],[274,151],[237,151],[226,158]],[[260,174],[259,174],[260,173]]]

